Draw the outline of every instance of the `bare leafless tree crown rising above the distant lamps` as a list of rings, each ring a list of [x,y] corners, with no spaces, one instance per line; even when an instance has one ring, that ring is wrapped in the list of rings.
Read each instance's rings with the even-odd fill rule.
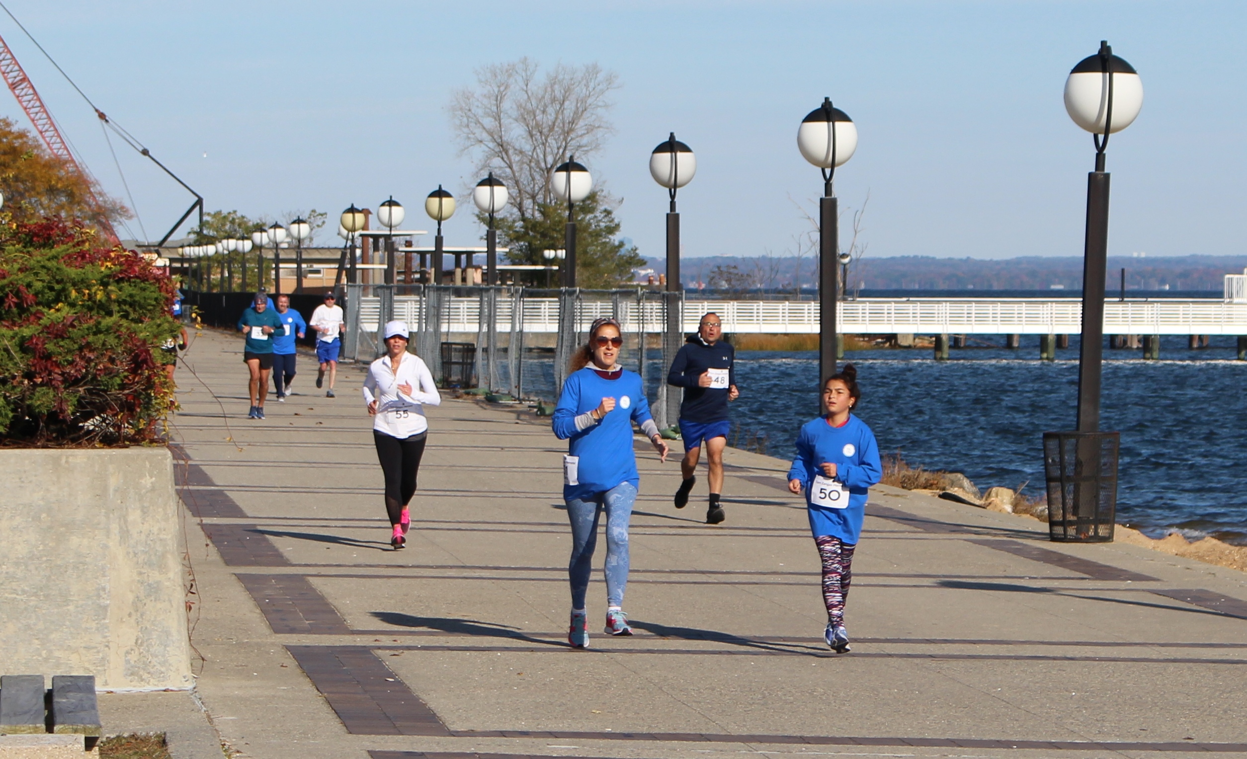
[[[479,172],[506,183],[522,219],[552,199],[556,166],[601,150],[614,131],[609,97],[620,87],[619,76],[597,64],[559,64],[545,76],[537,69],[527,57],[483,66],[476,86],[455,91],[448,106],[460,155],[473,155]]]

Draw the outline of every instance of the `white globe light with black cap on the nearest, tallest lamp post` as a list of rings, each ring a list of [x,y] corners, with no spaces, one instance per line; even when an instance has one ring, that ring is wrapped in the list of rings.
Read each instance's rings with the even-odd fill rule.
[[[1112,82],[1112,110],[1109,84]],[[1065,80],[1065,111],[1084,130],[1104,135],[1120,132],[1134,123],[1143,107],[1143,82],[1135,69],[1112,55],[1101,42],[1100,54],[1082,59]]]

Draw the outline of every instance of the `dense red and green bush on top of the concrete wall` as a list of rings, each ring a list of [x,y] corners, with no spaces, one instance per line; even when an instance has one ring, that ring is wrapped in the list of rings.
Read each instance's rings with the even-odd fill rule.
[[[0,216],[0,445],[130,445],[173,405],[173,283],[56,218]]]

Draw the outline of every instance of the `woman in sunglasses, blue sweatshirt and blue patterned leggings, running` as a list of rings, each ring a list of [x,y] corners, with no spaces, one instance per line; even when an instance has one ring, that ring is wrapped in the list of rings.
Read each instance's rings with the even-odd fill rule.
[[[567,642],[589,646],[585,594],[592,572],[597,520],[606,512],[606,632],[630,636],[624,613],[627,586],[627,528],[632,502],[641,482],[632,450],[632,422],[653,444],[662,461],[667,444],[650,418],[641,376],[616,364],[624,337],[615,319],[597,319],[589,330],[589,344],[576,351],[571,374],[562,385],[551,426],[560,440],[570,440],[564,456],[562,497],[571,521],[571,627]]]

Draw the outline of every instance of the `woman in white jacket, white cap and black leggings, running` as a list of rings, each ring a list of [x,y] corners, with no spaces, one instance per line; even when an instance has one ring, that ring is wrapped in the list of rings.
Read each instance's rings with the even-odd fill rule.
[[[415,475],[429,434],[424,406],[441,405],[441,395],[420,356],[407,351],[407,323],[388,322],[383,335],[385,355],[368,368],[364,403],[373,416],[377,459],[385,474],[385,511],[394,530],[390,546],[397,551],[407,545],[412,525],[407,505],[415,495]]]

